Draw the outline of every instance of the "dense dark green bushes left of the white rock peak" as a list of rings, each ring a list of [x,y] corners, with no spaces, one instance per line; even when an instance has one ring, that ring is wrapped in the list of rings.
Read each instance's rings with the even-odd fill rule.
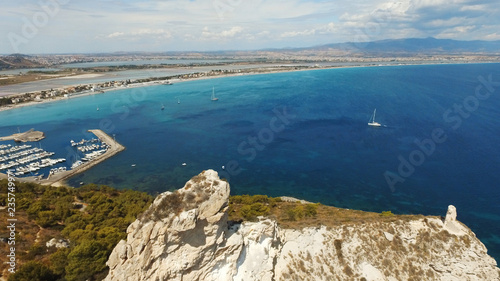
[[[138,191],[118,191],[87,185],[73,189],[16,182],[16,273],[9,281],[101,280],[115,245],[126,238],[126,229],[152,202]],[[0,205],[6,206],[7,181],[0,181]],[[0,212],[0,237],[9,233]],[[52,238],[69,247],[46,247]],[[8,251],[0,248],[1,271]]]

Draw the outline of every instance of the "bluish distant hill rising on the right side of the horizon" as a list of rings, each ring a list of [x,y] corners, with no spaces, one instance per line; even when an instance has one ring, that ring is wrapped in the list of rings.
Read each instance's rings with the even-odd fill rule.
[[[347,42],[304,48],[304,50],[341,50],[368,54],[500,54],[500,41],[458,41],[451,39],[407,38],[373,42]]]

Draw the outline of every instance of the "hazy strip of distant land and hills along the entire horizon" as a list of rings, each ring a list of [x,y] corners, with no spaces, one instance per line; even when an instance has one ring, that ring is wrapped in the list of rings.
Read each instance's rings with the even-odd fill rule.
[[[261,50],[232,50],[232,51],[165,51],[152,52],[114,52],[99,54],[74,54],[75,61],[68,60],[71,54],[24,55],[11,54],[0,56],[0,70],[47,67],[73,62],[92,61],[126,61],[133,59],[221,59],[232,58],[238,60],[324,60],[325,58],[348,59],[349,57],[412,57],[433,55],[480,55],[488,57],[500,56],[500,40],[497,41],[459,41],[452,39],[406,38],[387,39],[371,42],[345,42],[318,45],[305,48],[279,48]],[[49,59],[47,59],[49,58]]]

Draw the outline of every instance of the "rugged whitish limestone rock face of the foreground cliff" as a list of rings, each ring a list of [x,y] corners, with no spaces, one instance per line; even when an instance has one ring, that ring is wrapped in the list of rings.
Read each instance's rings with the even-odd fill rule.
[[[444,222],[292,230],[264,218],[230,225],[228,198],[212,170],[161,194],[113,250],[105,280],[500,280],[453,206]]]

